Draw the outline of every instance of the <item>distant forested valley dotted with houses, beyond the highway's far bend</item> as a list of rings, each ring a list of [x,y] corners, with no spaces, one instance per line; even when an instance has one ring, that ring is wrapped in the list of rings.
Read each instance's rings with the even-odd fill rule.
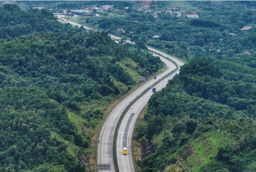
[[[125,5],[130,7],[125,9]],[[187,61],[197,56],[230,59],[245,51],[252,54],[255,52],[256,35],[253,26],[256,12],[252,11],[256,6],[255,1],[152,1],[148,8],[154,10],[157,7],[157,11],[161,12],[157,13],[158,18],[152,12],[138,11],[140,6],[146,5],[116,2],[117,9],[108,11],[109,15],[114,13],[114,16],[83,17],[76,20],[82,22],[86,18],[88,26],[107,28],[108,33],[134,42],[142,41]],[[181,11],[181,16],[165,12],[169,7],[178,8],[176,12]],[[117,14],[121,16],[115,17]],[[198,14],[199,18],[188,18],[186,14]],[[241,30],[245,26],[252,28]],[[154,39],[154,35],[159,35],[159,39]],[[154,43],[148,42],[152,39]]]

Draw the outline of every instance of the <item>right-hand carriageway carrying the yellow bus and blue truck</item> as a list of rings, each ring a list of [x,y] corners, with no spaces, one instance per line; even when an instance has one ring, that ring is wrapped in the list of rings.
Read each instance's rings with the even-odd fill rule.
[[[151,49],[152,51],[156,51],[158,53],[163,54],[162,52],[157,51],[155,49],[152,49],[152,48],[148,48],[148,49]],[[159,56],[157,54],[153,54],[153,55]],[[180,60],[175,59],[168,54],[164,53],[164,56],[175,61],[178,64],[178,66],[182,66],[184,64]],[[161,60],[164,61],[166,66],[169,66],[172,70],[176,67],[172,62],[170,62],[170,61],[168,62],[168,60],[166,61],[166,59],[164,59],[164,58],[161,58]],[[169,79],[172,79],[172,77],[178,73],[179,73],[179,70],[177,70],[176,72],[174,72],[173,74],[169,75],[164,80],[162,80],[161,82],[156,84],[155,85],[156,90],[160,91],[162,88],[164,88],[167,84],[167,81]],[[120,128],[119,128],[118,134],[117,134],[117,144],[116,144],[117,162],[118,162],[118,167],[119,167],[120,172],[136,172],[134,162],[133,162],[133,156],[132,156],[133,129],[135,127],[136,120],[137,120],[141,110],[143,109],[144,106],[146,106],[146,104],[148,103],[148,100],[152,94],[153,94],[152,89],[150,89],[141,98],[139,98],[129,108],[129,110],[125,114],[125,116],[120,124]],[[127,155],[123,155],[123,153],[122,153],[123,147],[127,147],[127,149],[128,149]]]

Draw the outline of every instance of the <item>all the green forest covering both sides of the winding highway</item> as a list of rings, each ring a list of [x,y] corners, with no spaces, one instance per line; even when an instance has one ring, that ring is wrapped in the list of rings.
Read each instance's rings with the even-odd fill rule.
[[[26,10],[0,7],[0,172],[86,171],[79,160],[92,154],[106,107],[136,77],[164,66],[145,45],[188,63],[136,125],[135,139],[146,145],[138,171],[256,171],[255,1],[15,3]],[[106,32],[52,14],[106,4],[114,9],[104,15],[68,18]],[[136,44],[117,44],[108,33]]]

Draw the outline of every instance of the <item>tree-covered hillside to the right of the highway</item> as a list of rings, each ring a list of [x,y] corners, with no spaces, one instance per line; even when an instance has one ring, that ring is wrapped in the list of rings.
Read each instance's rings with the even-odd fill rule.
[[[135,129],[148,143],[147,156],[137,162],[143,171],[254,171],[255,83],[224,80],[229,64],[240,66],[192,60],[154,93]]]

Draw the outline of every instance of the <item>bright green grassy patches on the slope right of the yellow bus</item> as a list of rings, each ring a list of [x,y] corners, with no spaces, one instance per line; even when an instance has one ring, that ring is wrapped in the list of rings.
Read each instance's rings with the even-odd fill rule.
[[[170,131],[161,132],[159,135],[153,137],[153,143],[157,146],[161,145],[164,136],[171,134]],[[134,147],[139,143],[133,141]],[[135,144],[134,144],[135,142]],[[171,172],[177,166],[181,169],[186,169],[191,172],[197,172],[202,166],[207,165],[211,160],[217,155],[218,149],[221,146],[227,144],[237,144],[235,140],[232,139],[230,134],[226,131],[221,132],[220,130],[212,131],[209,133],[203,133],[198,138],[192,140],[189,144],[181,146],[174,153],[166,153],[165,162],[170,162],[176,159],[176,164],[170,165],[165,171]],[[137,150],[134,150],[134,152]],[[184,157],[187,157],[186,159]],[[136,157],[135,160],[138,160]],[[180,170],[180,169],[179,169]]]

